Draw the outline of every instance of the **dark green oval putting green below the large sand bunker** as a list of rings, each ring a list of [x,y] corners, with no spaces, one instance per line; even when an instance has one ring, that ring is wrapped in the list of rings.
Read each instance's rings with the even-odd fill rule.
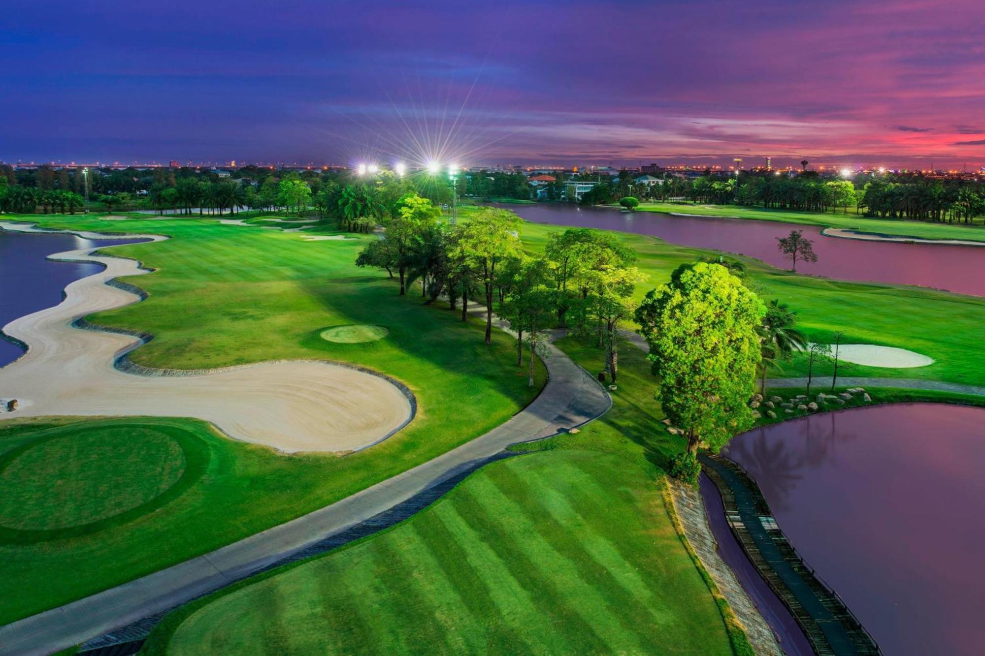
[[[16,540],[95,526],[157,505],[186,469],[183,445],[157,427],[49,431],[0,457],[0,529]]]

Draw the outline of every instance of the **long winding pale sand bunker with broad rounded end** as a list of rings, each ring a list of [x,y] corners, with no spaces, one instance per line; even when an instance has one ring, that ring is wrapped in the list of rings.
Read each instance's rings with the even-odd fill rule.
[[[5,222],[0,228],[50,231]],[[0,398],[18,400],[18,409],[0,414],[0,421],[44,415],[193,417],[235,439],[296,452],[359,450],[413,418],[409,391],[405,394],[383,376],[341,364],[274,361],[210,371],[142,371],[152,375],[121,371],[114,361],[140,346],[140,338],[71,324],[92,312],[139,301],[133,292],[106,283],[149,272],[134,260],[90,252],[67,251],[50,259],[99,262],[104,271],[71,283],[58,305],[4,326],[7,335],[29,349],[0,368]]]

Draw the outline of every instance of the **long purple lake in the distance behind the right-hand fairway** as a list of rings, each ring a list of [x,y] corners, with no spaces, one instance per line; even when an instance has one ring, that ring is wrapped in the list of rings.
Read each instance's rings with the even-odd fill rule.
[[[772,221],[670,217],[566,204],[503,207],[534,223],[652,234],[671,243],[749,255],[783,269],[790,268],[790,262],[777,250],[776,237],[786,236],[790,230],[804,230],[814,241],[818,261],[798,262],[799,273],[985,295],[983,246],[858,241],[823,236],[820,228]]]

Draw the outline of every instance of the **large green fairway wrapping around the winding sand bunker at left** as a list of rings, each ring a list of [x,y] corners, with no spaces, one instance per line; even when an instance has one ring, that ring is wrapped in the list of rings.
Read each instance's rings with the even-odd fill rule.
[[[201,423],[182,423],[208,440],[210,475],[153,516],[85,536],[0,545],[0,623],[218,549],[426,462],[502,424],[545,379],[539,363],[537,387],[527,387],[526,371],[515,365],[514,345],[504,333],[493,333],[493,347],[486,347],[478,320],[463,324],[457,312],[426,306],[413,290],[397,295],[385,273],[356,267],[357,252],[375,235],[304,241],[304,233],[319,230],[286,233],[197,218],[23,219],[49,228],[173,237],[109,249],[157,269],[127,280],[148,292],[145,301],[89,317],[154,334],[131,354],[133,361],[167,368],[280,359],[354,362],[401,380],[419,410],[396,435],[345,457],[284,456],[220,437]],[[380,324],[389,334],[362,344],[319,336],[326,326],[345,324]],[[0,450],[32,438],[37,426],[64,423],[0,423]],[[24,483],[47,481],[35,472]]]

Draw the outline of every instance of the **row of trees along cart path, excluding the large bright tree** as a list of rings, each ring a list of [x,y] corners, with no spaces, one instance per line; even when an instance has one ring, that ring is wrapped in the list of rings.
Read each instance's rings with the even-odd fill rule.
[[[360,253],[357,264],[379,267],[399,282],[400,294],[421,283],[431,302],[444,296],[462,320],[469,299],[486,310],[487,344],[493,339],[493,313],[517,335],[517,363],[526,346],[531,384],[533,354],[553,326],[591,335],[606,349],[607,369],[618,376],[619,322],[631,316],[631,296],[642,275],[635,254],[609,232],[570,229],[553,233],[543,255],[521,249],[520,221],[511,212],[484,208],[467,223],[438,221],[433,204],[408,195],[383,220],[381,238]]]

